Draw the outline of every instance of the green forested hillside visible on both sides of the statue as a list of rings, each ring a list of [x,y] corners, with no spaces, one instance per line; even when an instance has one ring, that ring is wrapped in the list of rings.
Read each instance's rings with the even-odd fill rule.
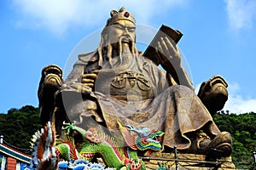
[[[251,167],[252,154],[256,151],[256,113],[236,115],[221,111],[213,119],[221,131],[230,132],[233,137],[231,156],[236,167]],[[27,154],[30,154],[32,134],[40,128],[38,108],[31,105],[0,114],[0,135],[4,136],[4,142]]]

